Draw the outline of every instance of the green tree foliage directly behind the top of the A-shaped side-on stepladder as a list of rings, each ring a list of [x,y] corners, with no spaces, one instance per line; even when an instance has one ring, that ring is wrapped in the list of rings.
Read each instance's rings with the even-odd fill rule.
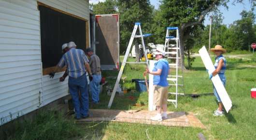
[[[124,52],[135,22],[141,23],[143,34],[149,33],[154,6],[150,5],[149,0],[118,0],[117,6],[120,14],[120,52]]]

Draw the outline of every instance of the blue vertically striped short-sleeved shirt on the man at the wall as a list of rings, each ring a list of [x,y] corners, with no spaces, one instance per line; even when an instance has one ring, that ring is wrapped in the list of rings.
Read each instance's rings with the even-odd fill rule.
[[[62,68],[66,65],[69,76],[78,78],[85,74],[85,63],[88,62],[83,50],[71,48],[68,52],[63,54],[58,66]]]

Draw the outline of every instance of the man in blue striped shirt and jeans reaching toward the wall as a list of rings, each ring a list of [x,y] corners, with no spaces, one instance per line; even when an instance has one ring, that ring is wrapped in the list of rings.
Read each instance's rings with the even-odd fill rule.
[[[76,49],[74,42],[69,42],[68,47],[64,48],[63,51],[65,54],[63,54],[59,63],[56,65],[54,71],[50,75],[53,77],[58,68],[62,68],[64,65],[66,65],[66,75],[69,76],[68,85],[75,108],[75,117],[76,119],[81,119],[81,117],[86,118],[89,116],[89,96],[85,67],[89,73],[90,80],[93,79],[90,65],[88,64],[89,61],[83,50]],[[65,77],[63,78],[65,79]],[[81,101],[79,100],[78,91],[80,91],[81,94]]]

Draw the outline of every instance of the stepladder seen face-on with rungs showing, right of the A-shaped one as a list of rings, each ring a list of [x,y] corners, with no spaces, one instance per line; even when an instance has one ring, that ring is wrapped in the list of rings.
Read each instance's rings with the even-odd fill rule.
[[[176,37],[170,36],[170,31],[176,31]],[[169,44],[174,43],[174,44]],[[165,38],[165,47],[167,58],[169,60],[170,68],[175,68],[175,74],[168,76],[167,80],[169,81],[169,88],[175,86],[175,92],[168,92],[169,94],[175,95],[175,99],[168,99],[168,102],[172,102],[174,106],[177,108],[178,95],[184,95],[184,79],[183,79],[183,67],[181,67],[181,73],[179,74],[179,65],[183,66],[181,60],[181,51],[180,51],[180,39],[179,39],[179,28],[178,27],[167,27],[166,38]],[[180,84],[181,82],[181,84]],[[180,90],[183,90],[183,93],[179,93]]]

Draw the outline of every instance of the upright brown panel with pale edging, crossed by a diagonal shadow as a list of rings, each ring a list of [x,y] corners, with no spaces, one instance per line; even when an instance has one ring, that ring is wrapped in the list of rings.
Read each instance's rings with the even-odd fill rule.
[[[96,15],[96,54],[102,70],[119,69],[119,16]],[[104,51],[101,51],[104,50]]]

